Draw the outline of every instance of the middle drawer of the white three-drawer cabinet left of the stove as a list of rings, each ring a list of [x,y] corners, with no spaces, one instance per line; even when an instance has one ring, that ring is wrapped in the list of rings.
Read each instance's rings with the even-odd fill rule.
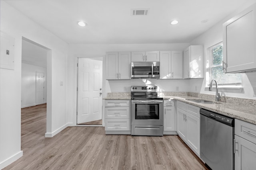
[[[105,119],[130,118],[130,107],[105,107]]]

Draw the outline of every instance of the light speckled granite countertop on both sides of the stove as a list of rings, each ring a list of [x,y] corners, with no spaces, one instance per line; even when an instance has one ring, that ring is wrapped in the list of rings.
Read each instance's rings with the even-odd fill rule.
[[[189,92],[159,92],[159,97],[164,98],[164,100],[177,100],[191,104],[202,109],[207,109],[220,113],[222,115],[227,115],[246,121],[256,125],[256,100],[242,99],[242,98],[231,98],[223,97],[221,102],[215,102],[214,95],[197,94]],[[108,93],[104,100],[130,100],[130,93]],[[212,101],[214,104],[200,104],[192,102],[190,100],[207,100]]]

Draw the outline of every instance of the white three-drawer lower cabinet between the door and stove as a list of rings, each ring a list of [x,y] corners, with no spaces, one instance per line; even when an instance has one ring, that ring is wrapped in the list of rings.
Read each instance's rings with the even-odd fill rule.
[[[105,100],[105,132],[107,135],[130,135],[130,100]]]

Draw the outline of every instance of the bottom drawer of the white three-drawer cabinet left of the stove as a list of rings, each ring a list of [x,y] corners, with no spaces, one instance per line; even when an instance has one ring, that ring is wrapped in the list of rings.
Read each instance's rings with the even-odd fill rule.
[[[105,131],[130,131],[130,119],[105,119]]]

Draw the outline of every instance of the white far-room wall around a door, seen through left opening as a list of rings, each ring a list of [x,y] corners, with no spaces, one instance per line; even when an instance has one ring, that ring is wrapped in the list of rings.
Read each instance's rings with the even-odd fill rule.
[[[47,101],[46,68],[22,63],[21,65],[21,108],[36,105],[36,72],[44,73],[44,103]]]

